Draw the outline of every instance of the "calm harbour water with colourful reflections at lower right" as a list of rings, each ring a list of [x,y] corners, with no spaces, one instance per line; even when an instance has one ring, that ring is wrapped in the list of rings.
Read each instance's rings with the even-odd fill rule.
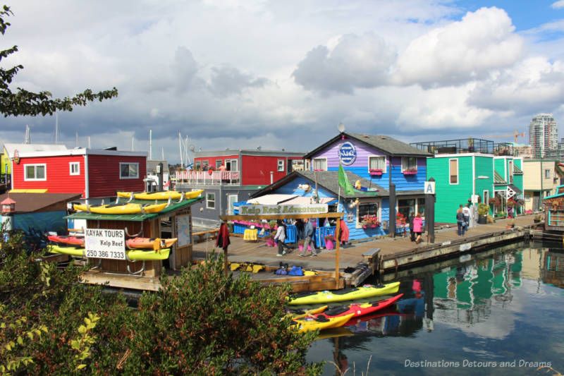
[[[324,375],[564,372],[564,249],[517,244],[398,275],[403,299],[314,341]],[[324,333],[322,333],[324,334]],[[352,335],[351,335],[352,334]]]

